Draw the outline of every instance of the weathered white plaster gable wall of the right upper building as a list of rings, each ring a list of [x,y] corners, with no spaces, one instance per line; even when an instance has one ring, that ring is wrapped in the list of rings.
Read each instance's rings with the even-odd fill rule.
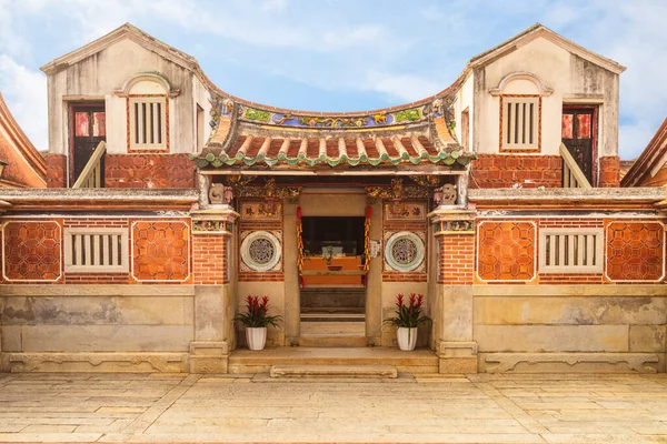
[[[478,125],[475,143],[478,152],[499,152],[500,99],[488,90],[514,72],[530,72],[554,93],[542,97],[541,151],[536,154],[557,155],[560,145],[564,103],[599,104],[598,155],[618,153],[618,75],[585,61],[557,44],[538,38],[514,52],[475,71],[475,104]],[[504,93],[534,94],[536,87],[526,80],[509,82]],[[472,118],[472,115],[471,115]]]

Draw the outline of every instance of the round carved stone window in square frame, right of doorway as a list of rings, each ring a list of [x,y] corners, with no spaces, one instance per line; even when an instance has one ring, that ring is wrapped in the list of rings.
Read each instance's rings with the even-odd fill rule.
[[[426,273],[426,232],[385,231],[385,271]]]

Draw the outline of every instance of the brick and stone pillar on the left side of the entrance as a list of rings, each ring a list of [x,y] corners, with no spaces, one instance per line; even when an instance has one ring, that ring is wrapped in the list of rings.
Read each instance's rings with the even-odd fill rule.
[[[190,373],[228,373],[236,306],[229,249],[239,214],[229,205],[211,205],[191,215],[195,341],[190,343]]]

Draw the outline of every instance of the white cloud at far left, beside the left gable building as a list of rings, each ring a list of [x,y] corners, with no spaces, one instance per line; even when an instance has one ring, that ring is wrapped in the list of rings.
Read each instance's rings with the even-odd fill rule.
[[[0,91],[12,115],[38,150],[48,148],[47,79],[0,54]]]

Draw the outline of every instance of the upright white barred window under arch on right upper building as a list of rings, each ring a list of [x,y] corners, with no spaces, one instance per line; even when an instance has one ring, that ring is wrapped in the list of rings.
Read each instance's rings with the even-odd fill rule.
[[[539,95],[502,95],[501,150],[539,151],[541,98]]]

